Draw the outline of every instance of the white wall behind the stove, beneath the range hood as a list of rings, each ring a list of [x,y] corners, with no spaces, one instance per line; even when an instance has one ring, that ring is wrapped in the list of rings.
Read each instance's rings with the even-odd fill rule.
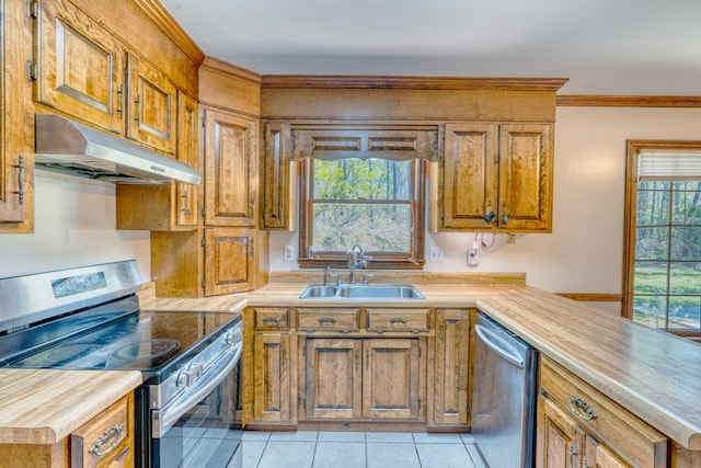
[[[33,235],[0,235],[0,277],[137,259],[150,278],[148,231],[117,231],[115,186],[36,171]]]

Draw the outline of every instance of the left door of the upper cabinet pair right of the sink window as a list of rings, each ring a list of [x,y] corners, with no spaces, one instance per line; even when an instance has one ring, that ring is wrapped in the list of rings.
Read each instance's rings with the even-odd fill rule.
[[[439,180],[443,229],[484,229],[497,210],[497,126],[448,124]]]

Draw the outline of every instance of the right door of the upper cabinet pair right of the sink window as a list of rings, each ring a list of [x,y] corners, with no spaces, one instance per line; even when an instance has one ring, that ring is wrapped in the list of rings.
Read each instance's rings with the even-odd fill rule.
[[[501,125],[498,227],[552,231],[551,124]]]

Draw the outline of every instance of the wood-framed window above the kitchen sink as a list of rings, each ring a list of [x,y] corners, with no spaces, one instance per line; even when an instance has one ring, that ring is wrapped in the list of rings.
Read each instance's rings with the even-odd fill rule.
[[[343,158],[302,164],[301,266],[345,266],[356,243],[368,267],[423,266],[425,161]]]

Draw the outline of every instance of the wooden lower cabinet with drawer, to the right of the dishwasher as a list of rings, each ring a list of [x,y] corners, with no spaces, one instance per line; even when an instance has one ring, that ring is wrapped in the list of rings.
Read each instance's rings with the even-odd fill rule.
[[[547,357],[540,361],[539,468],[666,468],[669,441]]]

